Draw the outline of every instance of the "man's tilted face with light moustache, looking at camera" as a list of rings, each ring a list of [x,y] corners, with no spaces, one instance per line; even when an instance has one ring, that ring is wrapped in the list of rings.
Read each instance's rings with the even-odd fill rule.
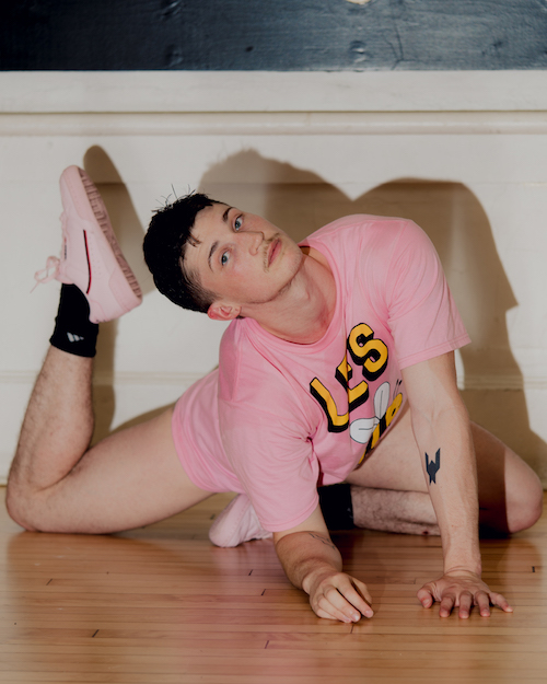
[[[302,263],[294,241],[269,221],[228,205],[206,207],[196,216],[185,266],[218,302],[244,306],[274,301]]]

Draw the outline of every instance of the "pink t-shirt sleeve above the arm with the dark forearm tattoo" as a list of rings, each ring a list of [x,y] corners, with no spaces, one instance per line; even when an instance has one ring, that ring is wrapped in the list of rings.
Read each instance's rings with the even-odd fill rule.
[[[385,285],[388,324],[399,367],[407,368],[470,341],[428,235],[405,221]]]

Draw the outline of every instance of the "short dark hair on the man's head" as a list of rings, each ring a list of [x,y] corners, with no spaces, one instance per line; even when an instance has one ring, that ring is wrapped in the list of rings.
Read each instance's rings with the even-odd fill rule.
[[[197,213],[218,204],[200,193],[179,197],[155,211],[144,236],[144,260],[155,287],[183,309],[207,313],[217,299],[214,292],[201,287],[198,274],[185,267],[184,256],[188,243],[199,244],[191,235]]]

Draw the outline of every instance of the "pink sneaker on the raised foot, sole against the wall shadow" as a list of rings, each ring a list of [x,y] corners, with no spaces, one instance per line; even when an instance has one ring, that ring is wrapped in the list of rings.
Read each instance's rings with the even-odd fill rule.
[[[90,303],[92,323],[118,318],[141,303],[142,292],[121,254],[106,207],[78,166],[62,172],[60,187],[65,209],[61,257],[50,256],[46,268],[34,277],[37,282],[56,278],[79,287]]]

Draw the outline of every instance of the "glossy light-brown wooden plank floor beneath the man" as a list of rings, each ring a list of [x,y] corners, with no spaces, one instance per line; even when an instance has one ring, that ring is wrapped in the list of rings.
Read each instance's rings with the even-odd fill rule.
[[[547,682],[547,514],[482,544],[485,578],[512,615],[441,619],[416,591],[440,542],[374,532],[335,537],[376,615],[314,616],[271,542],[211,546],[229,497],[116,536],[22,532],[0,507],[0,682],[321,684]]]

